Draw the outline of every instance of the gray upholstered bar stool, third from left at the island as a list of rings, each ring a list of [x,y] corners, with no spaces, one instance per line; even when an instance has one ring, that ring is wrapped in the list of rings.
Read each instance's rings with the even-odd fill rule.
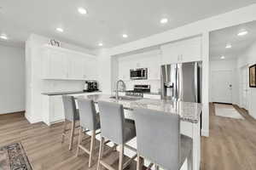
[[[115,144],[114,147],[119,144],[119,170],[123,170],[137,157],[137,155],[132,156],[128,161],[123,162],[124,147],[128,147],[130,150],[137,152],[137,150],[125,144],[136,136],[135,124],[133,121],[125,119],[123,105],[105,101],[99,101],[98,105],[101,113],[102,138],[97,170],[99,170],[101,166],[113,170],[111,165],[108,165],[108,163],[102,160],[105,139],[112,141]]]

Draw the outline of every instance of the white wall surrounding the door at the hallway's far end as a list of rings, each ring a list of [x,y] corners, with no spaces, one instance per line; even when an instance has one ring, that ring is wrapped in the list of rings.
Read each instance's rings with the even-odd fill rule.
[[[239,82],[238,82],[238,71],[237,71],[237,59],[215,59],[210,61],[210,77],[212,77],[213,71],[232,71],[231,81],[232,81],[232,104],[238,105],[239,103]],[[212,84],[211,78],[209,80],[210,84],[210,102],[212,102]]]

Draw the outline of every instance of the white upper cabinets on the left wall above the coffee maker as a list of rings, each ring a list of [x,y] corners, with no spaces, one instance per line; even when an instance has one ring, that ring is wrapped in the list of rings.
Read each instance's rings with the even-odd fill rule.
[[[96,56],[65,48],[44,46],[43,79],[90,80],[96,79]]]

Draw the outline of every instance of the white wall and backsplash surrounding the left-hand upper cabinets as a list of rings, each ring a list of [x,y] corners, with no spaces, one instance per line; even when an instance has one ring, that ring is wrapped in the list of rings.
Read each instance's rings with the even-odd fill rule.
[[[84,81],[42,80],[42,52],[49,37],[32,34],[26,41],[26,119],[29,122],[41,122],[43,92],[79,91],[83,90]],[[61,42],[62,48],[69,48],[93,54],[88,49]]]

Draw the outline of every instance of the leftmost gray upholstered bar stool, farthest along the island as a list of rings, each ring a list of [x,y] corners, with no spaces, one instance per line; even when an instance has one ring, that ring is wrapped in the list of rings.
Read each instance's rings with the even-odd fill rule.
[[[63,127],[63,133],[61,138],[61,143],[64,142],[67,131],[70,131],[69,138],[69,150],[72,150],[73,147],[73,138],[76,122],[79,121],[79,110],[76,108],[75,100],[73,96],[62,95],[62,102],[64,107],[65,122]],[[71,122],[71,129],[67,129],[67,123]]]

